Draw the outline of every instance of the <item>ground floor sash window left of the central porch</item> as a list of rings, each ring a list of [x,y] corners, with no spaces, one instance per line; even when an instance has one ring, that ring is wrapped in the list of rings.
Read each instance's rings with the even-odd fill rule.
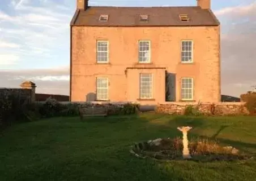
[[[108,100],[108,78],[107,77],[96,78],[96,99]]]

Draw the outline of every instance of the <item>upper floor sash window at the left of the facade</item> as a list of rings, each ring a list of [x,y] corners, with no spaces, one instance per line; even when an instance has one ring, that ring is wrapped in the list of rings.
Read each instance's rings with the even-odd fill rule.
[[[108,41],[97,41],[97,63],[108,63]]]

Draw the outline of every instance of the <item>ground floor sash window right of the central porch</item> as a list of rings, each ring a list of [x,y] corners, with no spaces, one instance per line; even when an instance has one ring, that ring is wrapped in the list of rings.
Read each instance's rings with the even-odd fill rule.
[[[193,100],[193,78],[181,78],[181,99]]]

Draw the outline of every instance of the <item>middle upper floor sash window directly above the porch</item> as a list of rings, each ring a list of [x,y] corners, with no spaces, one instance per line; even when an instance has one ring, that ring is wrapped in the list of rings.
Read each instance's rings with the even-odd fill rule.
[[[150,63],[150,41],[139,41],[139,63]]]

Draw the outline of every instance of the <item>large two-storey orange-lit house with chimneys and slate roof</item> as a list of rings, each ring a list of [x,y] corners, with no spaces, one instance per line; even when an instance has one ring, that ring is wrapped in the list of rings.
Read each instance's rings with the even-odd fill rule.
[[[210,0],[187,7],[76,3],[71,101],[220,101],[220,23]]]

